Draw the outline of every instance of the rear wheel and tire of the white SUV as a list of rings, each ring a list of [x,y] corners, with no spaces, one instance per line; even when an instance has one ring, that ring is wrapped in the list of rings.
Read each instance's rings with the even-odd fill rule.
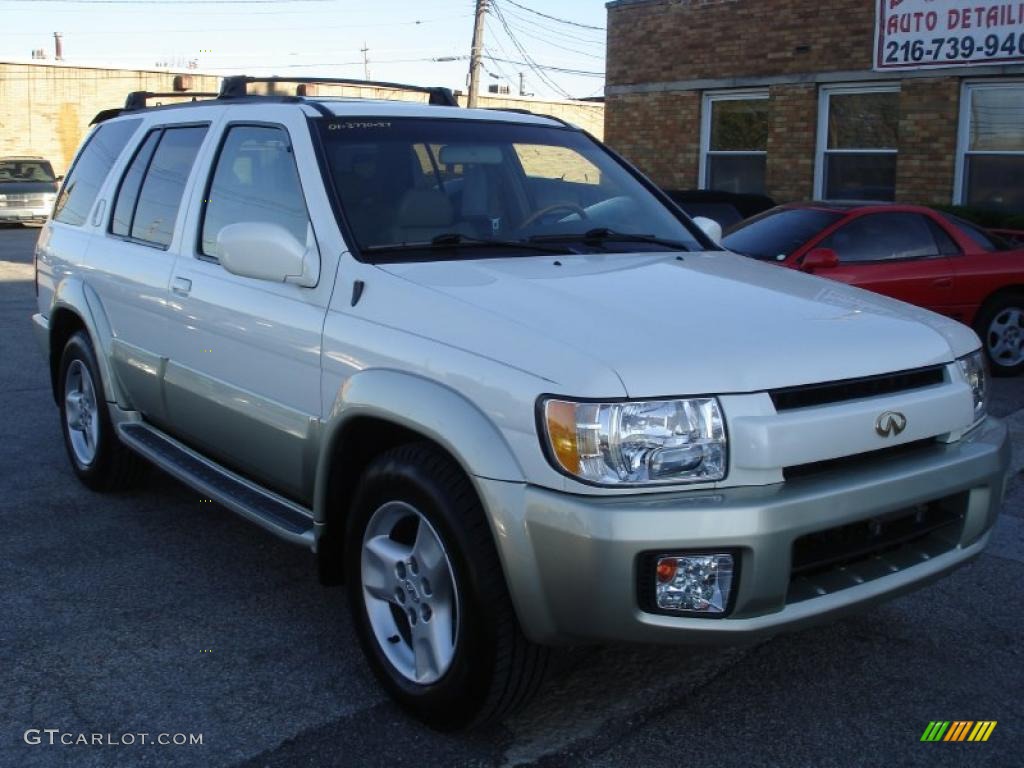
[[[65,344],[57,376],[60,428],[78,479],[93,490],[129,487],[144,464],[118,439],[96,354],[84,331]]]

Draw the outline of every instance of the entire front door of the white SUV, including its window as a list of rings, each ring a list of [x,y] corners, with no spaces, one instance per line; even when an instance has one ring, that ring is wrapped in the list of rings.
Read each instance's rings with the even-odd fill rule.
[[[268,124],[229,124],[208,191],[190,217],[194,257],[172,275],[176,314],[164,377],[173,433],[299,501],[311,500],[321,414],[321,339],[333,271],[314,288],[231,274],[217,261],[229,224],[276,224],[312,236],[296,152],[308,129],[292,110]],[[296,141],[298,137],[298,141]],[[301,242],[301,241],[300,241]]]

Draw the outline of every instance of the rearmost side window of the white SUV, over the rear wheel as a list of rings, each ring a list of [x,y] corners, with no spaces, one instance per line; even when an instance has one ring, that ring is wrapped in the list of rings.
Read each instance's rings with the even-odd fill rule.
[[[99,187],[141,120],[100,125],[82,147],[53,208],[53,219],[79,226],[89,216]]]

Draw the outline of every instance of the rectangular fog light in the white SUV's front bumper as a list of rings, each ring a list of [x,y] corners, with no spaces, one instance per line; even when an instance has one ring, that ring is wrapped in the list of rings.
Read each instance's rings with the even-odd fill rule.
[[[732,589],[732,555],[659,557],[654,595],[663,610],[724,613]]]

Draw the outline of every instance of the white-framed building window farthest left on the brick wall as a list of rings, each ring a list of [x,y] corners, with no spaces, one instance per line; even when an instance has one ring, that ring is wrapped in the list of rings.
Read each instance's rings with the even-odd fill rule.
[[[700,130],[700,187],[763,195],[768,91],[707,93]]]

